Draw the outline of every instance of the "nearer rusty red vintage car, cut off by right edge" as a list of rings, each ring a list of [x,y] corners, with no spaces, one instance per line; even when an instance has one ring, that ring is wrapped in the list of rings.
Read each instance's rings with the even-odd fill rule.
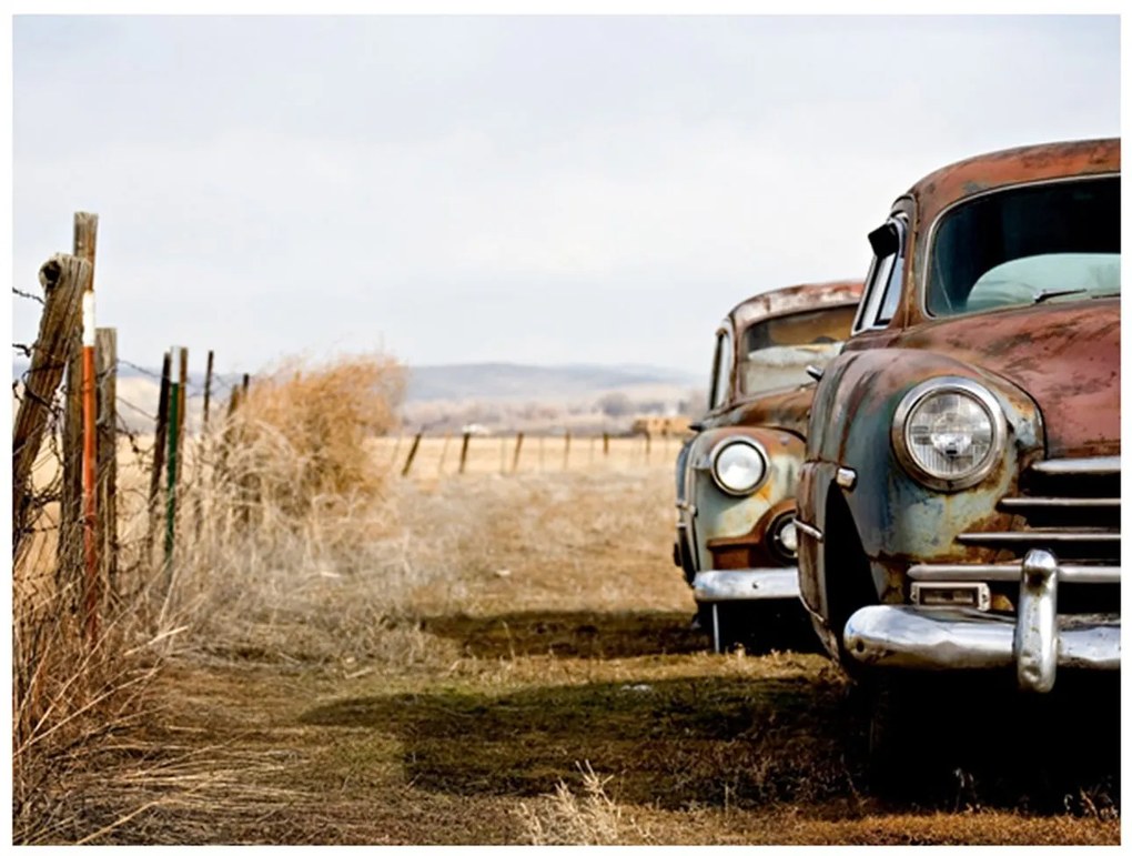
[[[882,763],[916,673],[1048,693],[1120,669],[1120,192],[1118,139],[1014,148],[927,176],[868,236],[796,527],[818,635],[877,687]]]

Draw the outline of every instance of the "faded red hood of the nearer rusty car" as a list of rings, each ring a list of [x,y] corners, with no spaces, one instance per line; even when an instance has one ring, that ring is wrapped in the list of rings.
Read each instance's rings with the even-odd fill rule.
[[[1049,457],[1120,454],[1120,298],[934,322],[899,346],[946,353],[1019,386],[1041,410]]]

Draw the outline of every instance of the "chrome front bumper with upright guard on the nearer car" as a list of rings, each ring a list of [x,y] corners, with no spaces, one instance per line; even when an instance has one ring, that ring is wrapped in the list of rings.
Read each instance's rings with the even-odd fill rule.
[[[846,651],[871,666],[1014,666],[1019,687],[1039,693],[1053,688],[1058,666],[1121,667],[1118,613],[1057,615],[1058,566],[1046,550],[1030,550],[1020,575],[1017,616],[964,608],[864,607],[846,623]]]

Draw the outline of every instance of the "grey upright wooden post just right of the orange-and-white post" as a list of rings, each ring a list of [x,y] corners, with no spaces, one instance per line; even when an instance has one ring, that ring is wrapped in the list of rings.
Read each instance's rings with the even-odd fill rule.
[[[95,332],[95,369],[98,378],[98,576],[105,591],[118,597],[118,331]]]

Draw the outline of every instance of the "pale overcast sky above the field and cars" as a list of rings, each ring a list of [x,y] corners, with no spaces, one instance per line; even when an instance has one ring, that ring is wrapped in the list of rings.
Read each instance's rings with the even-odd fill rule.
[[[20,16],[14,60],[15,286],[95,212],[98,325],[195,370],[706,374],[734,303],[863,275],[924,173],[1120,134],[1115,16]]]

